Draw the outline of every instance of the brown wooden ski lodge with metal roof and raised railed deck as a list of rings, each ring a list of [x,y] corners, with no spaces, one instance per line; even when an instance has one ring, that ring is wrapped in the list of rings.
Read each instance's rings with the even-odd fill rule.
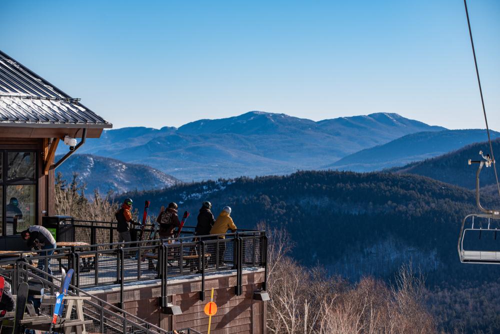
[[[0,257],[0,274],[11,280],[13,292],[23,274],[26,280],[40,276],[31,264],[44,262],[53,269],[53,278],[46,266],[41,275],[48,278],[46,290],[61,267],[71,267],[74,291],[93,298],[84,308],[87,330],[92,328],[88,331],[167,334],[179,328],[206,332],[203,305],[214,288],[218,314],[211,320],[212,333],[265,333],[263,231],[211,240],[193,239],[186,228],[173,242],[153,240],[121,248],[115,242],[115,222],[65,217],[57,218],[56,241],[75,242],[73,246],[61,247],[53,257],[36,252],[28,256],[18,233],[55,215],[55,168],[85,139],[98,138],[111,127],[78,98],[0,51],[0,250],[16,251],[15,256]],[[66,153],[56,159],[58,146]],[[59,232],[63,229],[64,234]],[[97,245],[97,234],[107,235],[109,243]],[[226,250],[220,253],[222,243]]]

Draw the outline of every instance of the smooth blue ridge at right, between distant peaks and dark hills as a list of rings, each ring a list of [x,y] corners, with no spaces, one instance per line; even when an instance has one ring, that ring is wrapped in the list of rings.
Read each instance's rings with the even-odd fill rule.
[[[491,138],[500,137],[500,132],[490,131],[490,134]],[[404,166],[483,141],[486,138],[484,129],[411,133],[385,144],[349,154],[324,168],[364,172]]]

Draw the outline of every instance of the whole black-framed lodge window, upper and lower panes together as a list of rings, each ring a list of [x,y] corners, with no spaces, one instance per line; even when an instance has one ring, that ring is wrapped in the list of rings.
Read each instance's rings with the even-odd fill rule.
[[[16,234],[35,224],[35,151],[0,151],[0,192],[0,234]]]

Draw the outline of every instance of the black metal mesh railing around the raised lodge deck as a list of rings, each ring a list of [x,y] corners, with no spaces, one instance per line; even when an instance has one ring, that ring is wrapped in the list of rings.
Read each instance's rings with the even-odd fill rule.
[[[0,259],[0,273],[13,276],[19,259],[36,265],[38,275],[50,281],[60,278],[61,268],[73,268],[73,285],[91,288],[110,284],[120,285],[120,303],[126,282],[161,280],[161,306],[167,303],[169,280],[185,275],[201,276],[200,298],[204,298],[205,276],[221,270],[236,271],[235,294],[242,292],[242,271],[263,267],[266,287],[267,239],[263,230],[242,230],[235,233],[193,236],[193,227],[184,227],[182,236],[172,239],[152,239],[120,243],[116,223],[71,220],[74,241],[88,245],[55,248],[45,255],[43,250],[20,252],[16,257]],[[113,242],[92,243],[105,238]],[[43,274],[43,272],[45,274]]]

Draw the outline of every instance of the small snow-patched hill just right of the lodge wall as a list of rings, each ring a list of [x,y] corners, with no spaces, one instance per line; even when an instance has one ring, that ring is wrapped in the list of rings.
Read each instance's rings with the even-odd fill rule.
[[[56,156],[56,160],[60,156]],[[101,194],[108,191],[122,193],[130,190],[150,190],[174,185],[179,180],[146,165],[126,163],[91,154],[73,154],[56,169],[65,180],[73,173],[85,184],[86,195],[93,190]]]

